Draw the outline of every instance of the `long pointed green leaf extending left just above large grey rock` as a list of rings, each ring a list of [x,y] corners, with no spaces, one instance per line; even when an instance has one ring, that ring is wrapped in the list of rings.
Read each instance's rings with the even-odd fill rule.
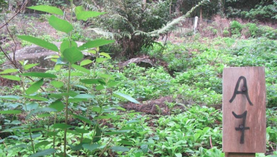
[[[31,42],[35,45],[44,47],[46,49],[49,49],[49,50],[52,50],[52,51],[55,51],[55,52],[59,52],[59,49],[55,44],[52,44],[50,42],[46,42],[42,39],[34,38],[34,37],[29,36],[29,35],[18,35],[17,37],[22,39],[22,40],[25,40],[27,42]]]

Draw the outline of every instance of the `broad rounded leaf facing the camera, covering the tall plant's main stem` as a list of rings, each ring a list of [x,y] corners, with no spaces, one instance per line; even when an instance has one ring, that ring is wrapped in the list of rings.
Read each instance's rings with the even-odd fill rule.
[[[82,52],[76,47],[67,48],[62,54],[71,64],[78,62],[83,58]]]

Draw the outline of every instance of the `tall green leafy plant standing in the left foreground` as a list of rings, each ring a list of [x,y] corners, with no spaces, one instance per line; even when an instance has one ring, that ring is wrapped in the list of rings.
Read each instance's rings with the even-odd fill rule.
[[[108,90],[109,88],[117,85],[119,81],[116,81],[112,75],[102,73],[102,74],[96,74],[96,68],[98,64],[103,64],[106,60],[110,59],[110,55],[104,52],[99,52],[99,46],[106,45],[109,43],[114,42],[114,40],[105,40],[105,39],[97,39],[92,40],[90,42],[87,42],[81,46],[78,46],[75,41],[72,40],[72,30],[73,30],[73,11],[75,11],[75,15],[77,20],[86,21],[88,18],[93,18],[105,13],[102,12],[94,12],[94,11],[85,11],[85,9],[82,6],[73,7],[73,0],[70,1],[70,21],[63,20],[59,18],[58,16],[63,16],[64,12],[60,10],[57,7],[54,6],[31,6],[29,9],[38,10],[38,11],[44,11],[47,13],[52,14],[48,20],[48,23],[57,31],[66,33],[68,35],[68,41],[62,42],[61,46],[58,48],[56,45],[50,42],[46,42],[44,40],[29,36],[29,35],[21,35],[18,36],[18,38],[25,40],[27,42],[31,42],[35,45],[41,46],[43,48],[46,48],[48,50],[52,50],[55,52],[58,52],[59,56],[52,56],[51,60],[56,62],[56,65],[54,67],[55,70],[61,70],[62,68],[67,69],[67,78],[66,80],[60,79],[57,74],[50,74],[50,73],[40,73],[40,72],[25,72],[26,70],[29,70],[30,68],[37,66],[38,64],[27,64],[28,61],[21,62],[22,68],[24,70],[21,70],[21,73],[18,75],[6,75],[14,72],[18,72],[18,69],[7,69],[0,73],[0,77],[7,78],[15,81],[21,82],[22,87],[22,93],[19,95],[4,95],[0,96],[0,99],[3,101],[9,101],[9,102],[20,102],[20,104],[25,108],[26,111],[26,125],[21,125],[19,127],[12,127],[8,128],[6,130],[3,130],[4,132],[15,132],[18,131],[18,129],[24,129],[25,132],[29,133],[29,138],[32,146],[33,154],[29,157],[35,157],[35,156],[44,156],[48,154],[53,154],[53,156],[63,156],[66,157],[67,152],[70,151],[77,151],[76,154],[79,156],[80,149],[85,149],[87,153],[93,152],[95,150],[98,150],[98,147],[100,146],[97,142],[100,141],[102,137],[102,131],[99,127],[99,123],[101,119],[113,119],[113,116],[103,115],[105,112],[103,112],[103,106],[108,99],[111,97],[118,97],[120,99],[129,100],[134,103],[139,103],[135,99],[131,98],[128,95],[124,95],[121,93],[112,93],[111,90]],[[96,50],[95,50],[96,48]],[[88,53],[91,53],[96,57],[94,62],[94,69],[92,72],[89,69],[84,68],[83,66],[92,63],[90,60],[84,60],[79,65],[78,62],[82,60],[83,54],[82,51],[86,51]],[[74,70],[80,71],[81,73],[73,72]],[[83,85],[75,85],[72,84],[71,79],[74,76],[87,74],[89,77],[88,79],[81,78],[80,83]],[[25,78],[35,78],[36,81],[26,83],[27,79]],[[42,89],[42,93],[38,92],[43,84],[44,81],[47,80],[50,81],[50,84],[56,88],[56,93],[51,91],[45,91]],[[30,85],[29,85],[30,84]],[[29,86],[29,87],[28,87]],[[65,89],[63,90],[62,87],[65,86]],[[81,87],[84,89],[87,89],[87,93],[78,93],[78,91],[73,91],[72,86]],[[90,87],[90,90],[87,87]],[[26,88],[28,87],[28,88]],[[93,95],[96,91],[104,91],[103,99],[98,99],[97,96]],[[35,103],[34,103],[35,102]],[[85,116],[78,115],[78,113],[75,113],[74,110],[70,110],[70,108],[74,108],[73,104],[78,105],[78,103],[83,102],[86,104],[86,114]],[[97,102],[97,103],[95,103]],[[47,105],[40,105],[40,104],[47,104]],[[96,105],[100,104],[100,105]],[[91,105],[94,105],[94,112],[97,113],[97,116],[95,117],[94,121],[91,121],[87,116],[89,115],[90,111],[92,110]],[[16,110],[7,110],[7,111],[0,111],[1,114],[20,114],[21,108],[17,107]],[[49,112],[54,113],[54,124],[52,125],[53,131],[47,131],[48,137],[53,137],[53,148],[49,148],[42,151],[37,151],[37,147],[47,145],[49,144],[48,141],[42,141],[40,143],[35,143],[34,138],[38,137],[37,133],[32,134],[34,131],[42,131],[43,128],[32,128],[32,123],[28,119],[31,117],[42,117],[43,116],[51,116],[51,115],[45,115],[41,113],[43,112]],[[61,113],[58,113],[61,112]],[[64,123],[56,123],[57,115],[64,115]],[[68,122],[69,116],[72,118],[81,120],[83,122],[82,129],[76,128],[72,130],[72,128],[75,128],[74,126],[70,125]],[[117,118],[117,117],[116,117]],[[89,125],[93,128],[93,136],[92,139],[84,141],[84,134],[88,133],[89,131],[85,129],[86,125]],[[63,130],[64,131],[64,137],[63,137],[63,151],[58,151],[56,153],[56,147],[55,142],[57,141],[56,136],[58,133]],[[3,132],[2,131],[2,132]],[[130,130],[123,130],[113,133],[112,135],[128,132]],[[67,133],[74,133],[75,135],[80,135],[80,141],[79,144],[76,146],[68,145],[68,139],[67,139]],[[24,132],[23,132],[24,133]],[[39,134],[40,135],[40,134]],[[59,141],[61,143],[61,141]],[[68,146],[70,146],[70,151],[68,150]],[[23,147],[18,146],[18,147]],[[24,145],[24,147],[28,147],[28,145]],[[106,146],[107,147],[107,146]],[[104,151],[103,149],[101,151],[101,155]],[[37,152],[36,152],[37,151]],[[101,156],[100,155],[100,156]]]

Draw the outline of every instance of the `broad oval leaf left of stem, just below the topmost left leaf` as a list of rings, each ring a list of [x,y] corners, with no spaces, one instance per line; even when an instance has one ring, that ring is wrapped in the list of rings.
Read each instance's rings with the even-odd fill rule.
[[[55,30],[61,32],[69,33],[73,30],[73,26],[69,22],[57,18],[55,15],[51,15],[48,22]]]

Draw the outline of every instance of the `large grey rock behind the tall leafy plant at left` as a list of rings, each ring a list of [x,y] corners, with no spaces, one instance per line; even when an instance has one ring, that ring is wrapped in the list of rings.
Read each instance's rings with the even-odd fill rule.
[[[61,46],[62,42],[54,42],[54,44],[58,47]],[[77,42],[78,46],[81,46],[84,44],[83,42]],[[83,52],[84,56],[87,58],[88,56],[91,56],[91,54],[87,52]],[[13,58],[13,53],[9,54],[11,58]],[[45,59],[47,56],[50,55],[59,55],[58,52],[54,52],[52,50],[48,50],[45,48],[42,48],[40,46],[32,45],[24,47],[20,50],[17,50],[15,52],[15,60],[16,61],[22,61],[22,60],[28,60],[28,63],[40,63],[37,68],[32,68],[31,71],[46,71],[49,68],[52,68],[55,66],[55,62],[51,61],[49,58]]]

